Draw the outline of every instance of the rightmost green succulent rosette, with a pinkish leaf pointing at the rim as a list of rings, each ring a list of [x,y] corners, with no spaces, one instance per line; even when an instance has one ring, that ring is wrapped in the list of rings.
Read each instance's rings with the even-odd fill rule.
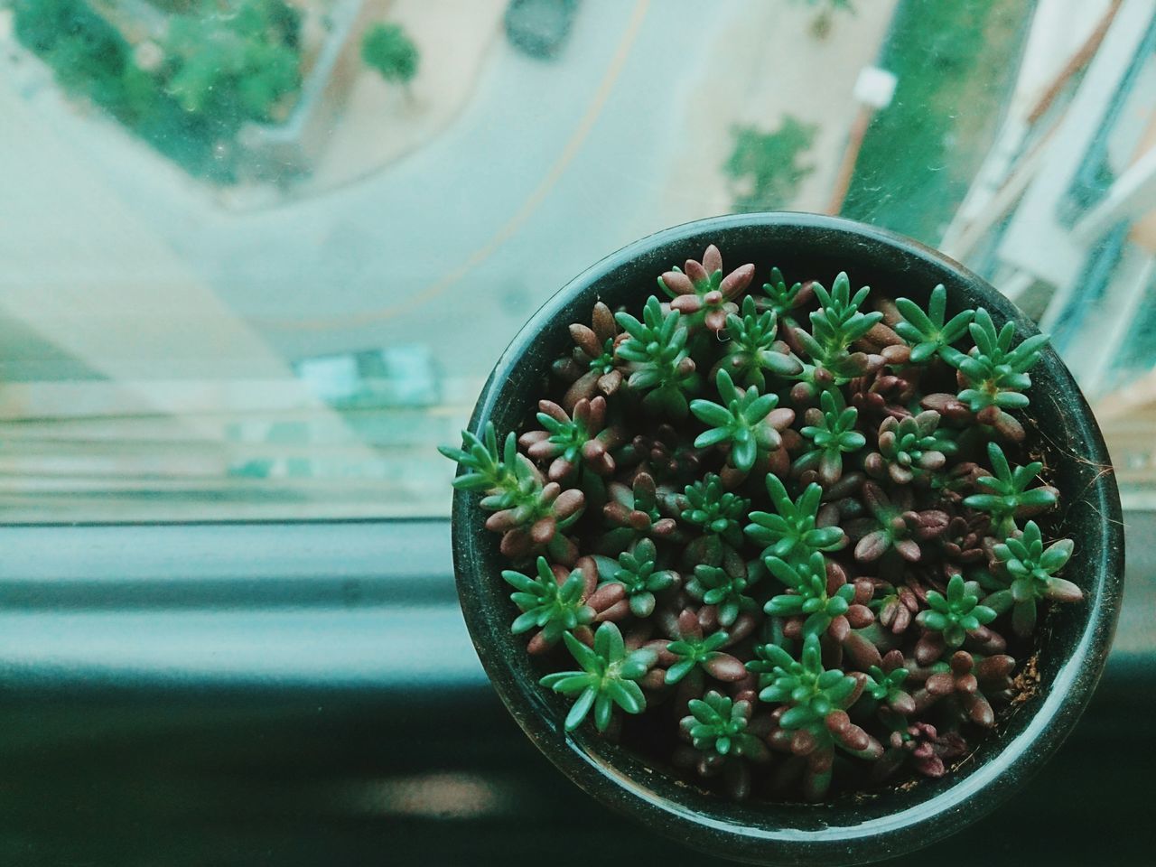
[[[1022,536],[1010,536],[994,547],[1000,569],[981,573],[980,584],[995,588],[984,600],[984,606],[998,614],[1010,609],[1011,628],[1027,638],[1036,629],[1039,601],[1079,602],[1083,599],[1080,587],[1055,575],[1067,565],[1073,547],[1070,539],[1061,539],[1044,548],[1039,526],[1028,521]]]

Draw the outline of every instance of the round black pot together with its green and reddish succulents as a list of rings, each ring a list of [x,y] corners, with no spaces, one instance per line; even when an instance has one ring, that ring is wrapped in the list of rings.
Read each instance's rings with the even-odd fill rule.
[[[716,854],[850,864],[958,829],[1055,750],[1111,643],[1120,506],[1079,388],[990,286],[879,229],[637,242],[531,319],[444,451],[511,713]]]

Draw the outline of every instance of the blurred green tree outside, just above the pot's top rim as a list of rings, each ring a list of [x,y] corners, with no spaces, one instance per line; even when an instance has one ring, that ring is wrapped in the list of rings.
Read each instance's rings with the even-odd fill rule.
[[[799,184],[815,170],[799,157],[810,149],[816,132],[817,127],[790,116],[772,133],[755,126],[734,127],[734,149],[722,170],[748,191],[735,197],[734,209],[775,210],[790,205]]]

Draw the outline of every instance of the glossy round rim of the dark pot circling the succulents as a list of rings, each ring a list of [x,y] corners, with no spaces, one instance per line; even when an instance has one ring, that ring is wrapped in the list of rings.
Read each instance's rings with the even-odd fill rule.
[[[1011,302],[980,277],[942,253],[895,232],[840,217],[792,212],[709,217],[636,240],[568,282],[529,318],[498,358],[479,398],[469,429],[480,432],[496,406],[510,399],[507,392],[517,388],[512,379],[521,358],[538,335],[555,323],[575,298],[624,264],[652,254],[658,249],[683,244],[694,238],[702,239],[704,234],[721,238],[736,229],[822,234],[830,239],[832,246],[846,246],[850,251],[847,261],[854,260],[857,247],[882,244],[897,249],[911,264],[946,272],[956,282],[966,284],[971,291],[984,296],[985,306],[998,323],[1006,319],[1016,321],[1018,339],[1038,333],[1035,325]],[[725,240],[720,246],[726,254]],[[851,271],[850,267],[847,269]],[[650,294],[649,289],[639,289],[640,298],[645,298],[646,294]],[[593,303],[592,297],[588,301]],[[1106,446],[1091,410],[1064,362],[1047,347],[1039,364],[1073,398],[1075,412],[1067,416],[1067,422],[1088,449],[1088,453],[1079,457],[1097,465],[1110,465]],[[1119,494],[1114,475],[1110,472],[1099,473],[1081,497],[1081,502],[1088,499],[1103,516],[1099,526],[1102,553],[1094,570],[1094,588],[1098,592],[1089,594],[1090,598],[1084,601],[1087,610],[1079,642],[1059,667],[1047,695],[1020,734],[980,766],[947,785],[938,794],[904,809],[853,824],[809,829],[750,827],[706,816],[691,806],[657,793],[652,787],[653,780],[636,779],[595,755],[592,749],[593,735],[587,735],[581,729],[568,735],[549,721],[547,709],[550,707],[550,699],[543,697],[546,690],[536,681],[518,681],[511,669],[509,654],[514,649],[525,653],[525,642],[518,642],[509,632],[509,618],[505,616],[509,602],[504,585],[498,576],[479,576],[473,568],[479,558],[482,534],[487,533],[482,527],[484,513],[481,512],[477,499],[476,495],[454,492],[453,548],[458,593],[470,638],[507,710],[555,765],[602,802],[696,849],[739,860],[765,864],[862,862],[919,849],[994,809],[1046,762],[1087,706],[1112,642],[1122,593],[1124,542]],[[1095,528],[1088,531],[1095,532]],[[1091,584],[1091,579],[1088,584]],[[501,605],[495,600],[499,600]],[[495,608],[501,612],[501,616]],[[888,795],[883,791],[877,796]],[[799,808],[821,809],[822,805],[800,805]]]

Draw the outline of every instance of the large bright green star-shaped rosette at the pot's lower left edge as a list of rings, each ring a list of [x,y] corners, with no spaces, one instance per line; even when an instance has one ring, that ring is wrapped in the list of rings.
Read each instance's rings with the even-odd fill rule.
[[[646,696],[637,681],[654,665],[654,651],[643,647],[627,653],[622,632],[613,623],[598,628],[593,649],[569,632],[563,638],[581,670],[548,674],[542,677],[541,684],[555,692],[578,696],[566,714],[568,732],[581,725],[591,707],[594,709],[594,726],[599,732],[605,732],[610,725],[615,705],[627,713],[646,710]]]

